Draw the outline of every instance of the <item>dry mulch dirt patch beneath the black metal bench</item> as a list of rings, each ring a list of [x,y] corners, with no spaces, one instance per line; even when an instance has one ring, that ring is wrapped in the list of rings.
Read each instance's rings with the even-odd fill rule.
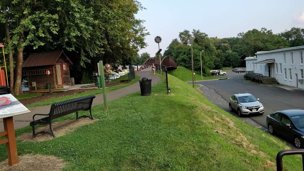
[[[91,120],[90,118],[83,118],[83,119],[80,119],[80,120],[76,120],[74,122],[72,122],[73,120],[65,120],[65,121],[52,123],[52,127],[53,127],[53,131],[54,131],[55,136],[56,137],[61,137],[65,134],[68,134],[69,132],[74,131],[75,129],[77,129],[78,127],[80,127],[82,125],[92,124],[97,120],[98,119]],[[62,126],[62,125],[64,125],[64,126]],[[62,127],[59,127],[59,126],[62,126]],[[54,129],[56,127],[59,127],[59,128]],[[36,129],[36,133],[40,132],[40,131],[50,131],[49,125]],[[32,138],[32,132],[30,132],[30,133],[21,134],[20,136],[17,137],[17,140],[40,142],[40,141],[51,140],[53,138],[54,137],[50,136],[49,134],[44,134],[44,135],[38,134],[36,136],[36,138]]]

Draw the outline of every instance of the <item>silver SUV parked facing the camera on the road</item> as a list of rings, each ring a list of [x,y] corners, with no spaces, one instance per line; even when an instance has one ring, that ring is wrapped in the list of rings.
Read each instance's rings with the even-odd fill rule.
[[[236,110],[241,117],[244,114],[260,114],[264,113],[264,106],[249,93],[233,94],[229,100],[230,111]]]

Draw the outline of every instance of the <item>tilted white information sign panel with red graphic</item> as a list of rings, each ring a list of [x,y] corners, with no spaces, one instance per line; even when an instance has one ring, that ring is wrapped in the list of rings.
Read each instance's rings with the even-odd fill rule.
[[[0,119],[29,112],[13,95],[0,95]]]

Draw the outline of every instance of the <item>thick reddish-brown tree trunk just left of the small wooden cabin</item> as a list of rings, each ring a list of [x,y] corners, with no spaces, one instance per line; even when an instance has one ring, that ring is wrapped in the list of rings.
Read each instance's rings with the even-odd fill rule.
[[[16,60],[16,78],[14,85],[15,96],[22,94],[21,78],[22,78],[22,64],[23,64],[23,47],[22,47],[23,38],[19,38],[19,48],[17,51],[17,60]]]

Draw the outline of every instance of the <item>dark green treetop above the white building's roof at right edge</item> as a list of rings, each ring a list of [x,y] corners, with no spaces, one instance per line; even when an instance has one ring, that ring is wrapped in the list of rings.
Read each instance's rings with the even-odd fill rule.
[[[288,41],[290,47],[304,45],[304,29],[292,27],[278,34]]]

